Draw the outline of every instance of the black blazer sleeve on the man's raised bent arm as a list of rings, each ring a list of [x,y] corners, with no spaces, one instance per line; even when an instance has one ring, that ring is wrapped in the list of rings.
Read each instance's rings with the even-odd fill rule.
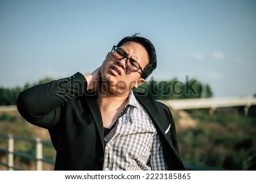
[[[19,94],[17,109],[28,122],[50,129],[59,122],[61,107],[87,88],[84,75],[75,75],[33,86]]]

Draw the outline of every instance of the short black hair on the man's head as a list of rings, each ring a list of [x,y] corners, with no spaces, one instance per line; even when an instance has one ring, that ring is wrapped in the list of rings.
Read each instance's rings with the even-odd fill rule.
[[[117,47],[122,46],[122,44],[126,42],[135,42],[141,44],[147,51],[149,63],[144,68],[144,79],[146,79],[152,71],[156,68],[156,52],[154,45],[150,42],[150,40],[143,38],[141,36],[137,36],[138,34],[134,34],[132,36],[126,36],[123,38],[118,44]]]

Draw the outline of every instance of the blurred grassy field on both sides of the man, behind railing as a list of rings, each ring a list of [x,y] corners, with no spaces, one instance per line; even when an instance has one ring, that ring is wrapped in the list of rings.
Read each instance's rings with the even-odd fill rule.
[[[196,110],[192,113],[172,111],[176,121],[180,155],[186,164],[228,170],[249,169],[256,159],[256,119],[230,113],[209,114]],[[48,131],[26,122],[18,111],[0,112],[0,134],[49,140]],[[7,142],[0,139],[0,147]],[[35,145],[15,143],[15,150],[35,154]],[[0,153],[0,160],[5,159]],[[54,160],[53,148],[45,148],[44,156]],[[35,164],[16,158],[15,164],[34,170]],[[3,168],[0,168],[3,169]],[[52,166],[44,166],[51,170]],[[255,168],[254,168],[255,169]]]

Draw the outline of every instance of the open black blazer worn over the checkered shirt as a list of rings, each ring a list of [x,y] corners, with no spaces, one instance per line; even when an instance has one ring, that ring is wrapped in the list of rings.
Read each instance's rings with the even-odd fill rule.
[[[48,129],[56,150],[55,170],[102,170],[104,128],[95,93],[81,73],[36,85],[19,94],[17,108],[30,123]],[[175,123],[168,107],[135,93],[155,124],[169,170],[184,170]]]

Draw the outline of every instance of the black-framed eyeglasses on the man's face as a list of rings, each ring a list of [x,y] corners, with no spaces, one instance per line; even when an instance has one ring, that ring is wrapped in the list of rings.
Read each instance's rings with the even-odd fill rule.
[[[141,75],[144,78],[144,72],[143,69],[141,68],[141,65],[134,59],[128,58],[126,55],[127,53],[123,51],[121,48],[117,46],[113,46],[111,55],[116,59],[116,60],[122,60],[125,59],[125,67],[129,69],[131,72],[137,72],[139,69],[141,69]]]

